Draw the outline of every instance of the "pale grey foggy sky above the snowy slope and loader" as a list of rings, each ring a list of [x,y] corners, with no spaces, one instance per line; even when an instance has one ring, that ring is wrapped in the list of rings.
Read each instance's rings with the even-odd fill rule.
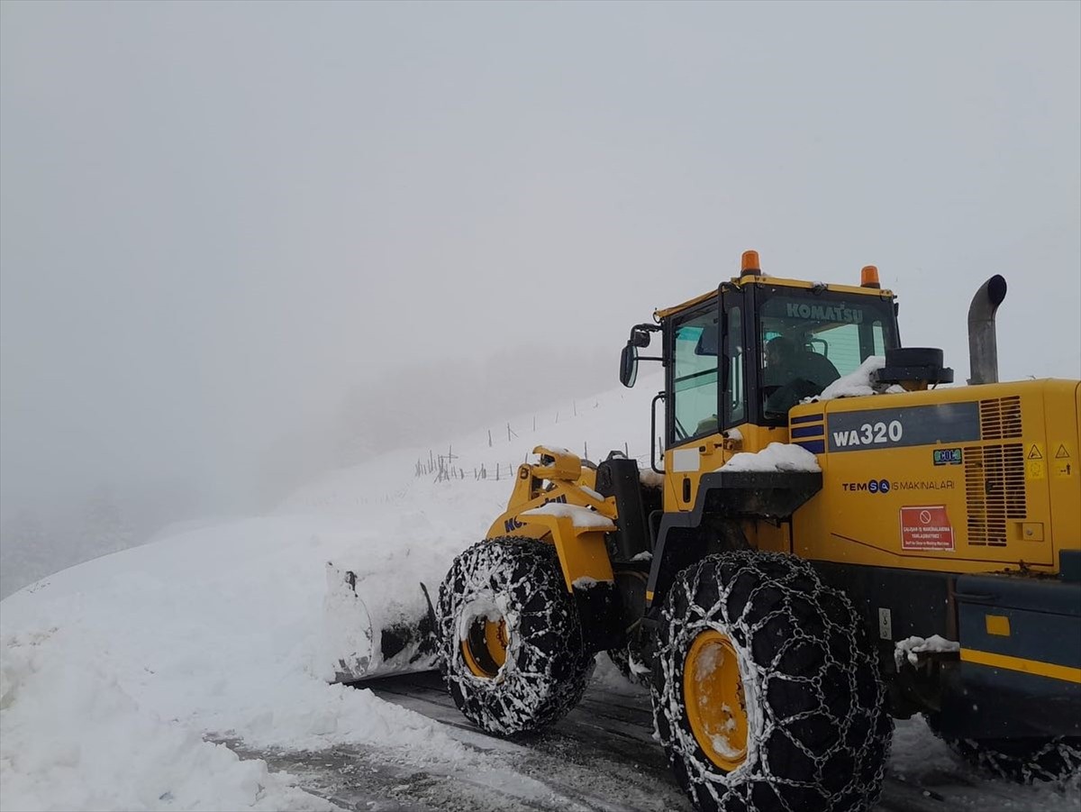
[[[1079,54],[1060,2],[4,2],[5,569],[610,388],[745,249],[877,264],[959,381],[1002,274],[1002,376],[1077,377]]]

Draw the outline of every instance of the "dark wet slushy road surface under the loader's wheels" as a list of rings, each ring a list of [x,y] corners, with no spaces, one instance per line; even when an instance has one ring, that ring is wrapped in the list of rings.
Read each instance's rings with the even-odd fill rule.
[[[649,694],[624,682],[603,657],[577,708],[551,730],[513,741],[470,726],[436,674],[373,680],[364,689],[446,726],[484,767],[418,766],[408,754],[372,747],[298,753],[241,746],[241,754],[297,776],[309,793],[349,810],[692,812],[652,738]],[[973,774],[916,718],[897,723],[877,812],[1078,809],[1076,786],[1024,787]]]

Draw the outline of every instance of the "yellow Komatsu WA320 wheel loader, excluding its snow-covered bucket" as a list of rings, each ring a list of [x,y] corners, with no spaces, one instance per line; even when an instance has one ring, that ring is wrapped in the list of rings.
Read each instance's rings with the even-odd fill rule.
[[[868,809],[892,718],[917,713],[1016,778],[1077,770],[1081,383],[998,382],[1005,289],[972,302],[967,386],[902,347],[872,266],[824,284],[747,252],[631,328],[620,381],[663,365],[663,452],[641,471],[539,447],[519,467],[432,607],[457,706],[537,730],[610,651],[710,812]]]

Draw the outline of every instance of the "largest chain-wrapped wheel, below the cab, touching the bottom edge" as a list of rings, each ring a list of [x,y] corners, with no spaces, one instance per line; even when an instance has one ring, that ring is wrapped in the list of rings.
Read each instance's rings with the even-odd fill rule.
[[[704,641],[713,649],[703,649]],[[868,652],[848,598],[798,558],[740,550],[681,572],[663,609],[652,693],[657,732],[695,806],[705,812],[873,806],[893,720]],[[705,729],[704,747],[689,697],[716,717],[699,704],[706,702],[699,689],[718,684],[715,671],[733,668],[722,662],[733,654],[742,713]],[[728,703],[723,709],[731,710]],[[735,731],[736,741],[724,731]]]

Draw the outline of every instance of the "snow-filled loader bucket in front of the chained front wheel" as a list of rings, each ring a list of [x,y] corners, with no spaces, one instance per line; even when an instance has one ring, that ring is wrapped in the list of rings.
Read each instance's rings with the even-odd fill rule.
[[[365,602],[365,583],[352,570],[326,564],[322,660],[331,682],[433,670],[435,618],[427,587]]]

